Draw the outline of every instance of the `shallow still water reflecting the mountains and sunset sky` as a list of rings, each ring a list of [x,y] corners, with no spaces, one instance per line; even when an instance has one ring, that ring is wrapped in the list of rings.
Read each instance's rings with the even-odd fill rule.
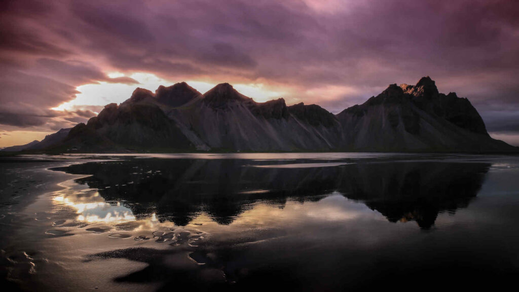
[[[519,157],[3,158],[4,287],[467,289],[519,275]]]

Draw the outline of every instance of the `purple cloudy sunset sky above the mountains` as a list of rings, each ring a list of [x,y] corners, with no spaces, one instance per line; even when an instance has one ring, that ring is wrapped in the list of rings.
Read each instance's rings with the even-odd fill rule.
[[[4,0],[0,147],[86,122],[136,87],[227,82],[338,113],[427,75],[519,145],[517,15],[505,0]]]

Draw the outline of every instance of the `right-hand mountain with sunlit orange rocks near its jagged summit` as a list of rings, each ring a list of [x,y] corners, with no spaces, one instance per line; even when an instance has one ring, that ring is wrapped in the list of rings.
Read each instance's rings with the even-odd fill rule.
[[[390,85],[376,97],[337,115],[344,149],[355,151],[514,150],[490,138],[466,98],[440,94],[434,81]]]

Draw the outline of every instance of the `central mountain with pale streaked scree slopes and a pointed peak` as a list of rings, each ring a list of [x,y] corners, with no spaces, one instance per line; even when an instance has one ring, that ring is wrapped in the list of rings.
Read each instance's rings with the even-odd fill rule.
[[[317,105],[298,107],[309,110],[299,113],[283,99],[258,103],[224,83],[172,109],[168,116],[199,149],[329,151],[339,147],[340,125],[333,114]],[[316,109],[319,113],[312,114]],[[320,122],[323,112],[331,123]]]

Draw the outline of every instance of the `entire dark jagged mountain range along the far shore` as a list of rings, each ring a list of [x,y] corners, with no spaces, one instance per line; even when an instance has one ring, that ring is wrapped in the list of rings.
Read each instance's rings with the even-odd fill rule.
[[[466,98],[445,95],[430,77],[390,85],[333,114],[284,99],[255,102],[233,86],[201,94],[185,82],[155,92],[137,88],[121,104],[41,142],[3,151],[517,151],[488,135]]]

